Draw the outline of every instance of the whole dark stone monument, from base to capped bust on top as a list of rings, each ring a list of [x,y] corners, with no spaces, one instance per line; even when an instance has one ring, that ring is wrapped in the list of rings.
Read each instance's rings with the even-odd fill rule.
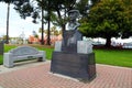
[[[78,31],[80,25],[78,10],[68,12],[68,30],[63,33],[63,41],[55,43],[55,51],[52,55],[51,72],[70,76],[80,80],[91,80],[96,77],[95,53],[92,44],[82,41]]]

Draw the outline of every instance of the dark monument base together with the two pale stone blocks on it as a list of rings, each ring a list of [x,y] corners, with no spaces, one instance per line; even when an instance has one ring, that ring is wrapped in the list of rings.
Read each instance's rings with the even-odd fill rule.
[[[91,42],[78,41],[77,51],[62,50],[62,42],[55,43],[52,55],[51,72],[70,76],[79,80],[91,80],[96,77],[96,61]]]

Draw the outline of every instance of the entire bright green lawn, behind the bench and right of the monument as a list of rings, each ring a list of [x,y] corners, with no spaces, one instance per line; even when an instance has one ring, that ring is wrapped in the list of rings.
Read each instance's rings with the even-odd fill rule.
[[[6,45],[4,52],[14,48],[14,45]],[[53,47],[34,46],[41,51],[46,51],[46,58],[51,59]],[[96,54],[97,64],[132,67],[132,50],[94,50]],[[2,64],[3,56],[0,55],[0,64]]]

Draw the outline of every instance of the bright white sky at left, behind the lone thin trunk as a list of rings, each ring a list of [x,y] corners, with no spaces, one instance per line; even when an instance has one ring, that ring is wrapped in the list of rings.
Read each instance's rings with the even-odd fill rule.
[[[6,35],[7,32],[7,6],[8,4],[0,2],[0,36]],[[10,6],[9,21],[10,37],[20,36],[22,33],[28,37],[33,31],[38,33],[38,29],[41,28],[41,23],[32,23],[32,18],[21,19],[19,13],[13,9],[13,4]]]

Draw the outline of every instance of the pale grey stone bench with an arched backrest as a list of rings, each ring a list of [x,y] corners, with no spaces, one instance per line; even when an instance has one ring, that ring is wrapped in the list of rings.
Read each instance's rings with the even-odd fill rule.
[[[6,67],[13,67],[14,62],[16,61],[24,61],[24,59],[34,59],[38,58],[38,61],[45,61],[45,52],[37,51],[35,47],[32,46],[19,46],[4,53],[3,56],[3,66]]]

